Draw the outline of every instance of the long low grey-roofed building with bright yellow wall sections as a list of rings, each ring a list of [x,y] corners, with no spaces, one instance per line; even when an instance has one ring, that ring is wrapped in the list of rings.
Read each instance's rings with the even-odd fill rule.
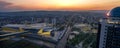
[[[45,27],[41,24],[22,25],[22,24],[8,24],[2,26],[3,32],[24,32],[29,31],[30,33],[36,33],[38,35],[50,37],[54,36],[53,28]]]

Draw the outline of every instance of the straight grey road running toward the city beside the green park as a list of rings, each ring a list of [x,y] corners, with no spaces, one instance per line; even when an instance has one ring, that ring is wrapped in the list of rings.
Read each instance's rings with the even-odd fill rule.
[[[71,32],[71,27],[69,26],[63,38],[56,45],[56,48],[65,48],[70,32]]]

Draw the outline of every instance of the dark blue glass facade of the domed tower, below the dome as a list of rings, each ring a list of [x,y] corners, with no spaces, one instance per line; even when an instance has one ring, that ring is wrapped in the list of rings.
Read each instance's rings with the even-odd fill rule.
[[[120,25],[107,27],[107,39],[105,48],[120,48]]]

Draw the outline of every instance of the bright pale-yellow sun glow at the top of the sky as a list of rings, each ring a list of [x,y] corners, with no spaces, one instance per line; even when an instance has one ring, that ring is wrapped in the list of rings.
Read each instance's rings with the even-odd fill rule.
[[[81,5],[82,3],[85,3],[85,0],[53,0],[53,2],[60,7],[69,7]]]

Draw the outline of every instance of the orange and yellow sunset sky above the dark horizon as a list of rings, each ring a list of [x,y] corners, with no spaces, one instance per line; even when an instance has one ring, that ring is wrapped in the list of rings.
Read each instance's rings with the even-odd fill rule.
[[[110,10],[120,0],[0,0],[0,11]]]

